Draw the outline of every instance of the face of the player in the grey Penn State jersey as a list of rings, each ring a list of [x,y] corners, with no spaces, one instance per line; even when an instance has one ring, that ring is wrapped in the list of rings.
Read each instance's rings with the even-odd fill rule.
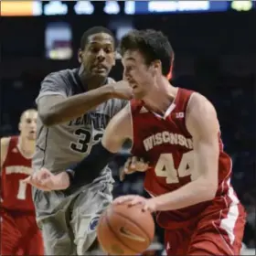
[[[92,77],[107,77],[115,64],[113,38],[106,33],[88,37],[84,50],[80,50],[80,63]]]

